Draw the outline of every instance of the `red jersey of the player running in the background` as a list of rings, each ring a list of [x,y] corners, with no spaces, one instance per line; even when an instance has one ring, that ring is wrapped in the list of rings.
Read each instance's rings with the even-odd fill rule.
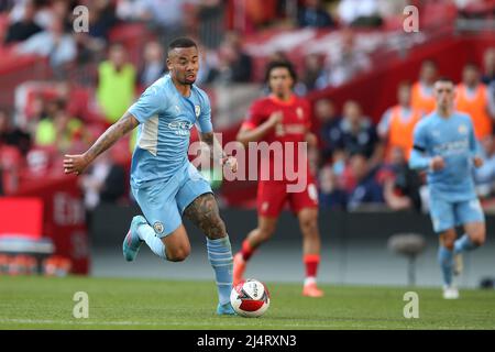
[[[266,142],[268,145],[277,143],[282,146],[283,163],[285,170],[297,172],[298,165],[298,143],[306,141],[306,133],[311,127],[309,102],[300,97],[293,95],[288,101],[283,101],[274,96],[256,100],[250,108],[243,127],[254,129],[270,119],[274,112],[280,111],[283,114],[282,123],[264,135],[260,142]],[[292,142],[292,143],[290,143]],[[263,157],[265,156],[265,157]],[[304,155],[306,167],[309,174],[307,154]],[[274,179],[274,166],[280,165],[280,160],[270,153],[268,156],[262,154],[263,167],[270,167],[271,179]],[[268,163],[268,165],[266,164]],[[295,165],[295,166],[294,166]],[[283,180],[287,180],[287,173],[283,172]],[[292,179],[292,177],[288,177]]]

